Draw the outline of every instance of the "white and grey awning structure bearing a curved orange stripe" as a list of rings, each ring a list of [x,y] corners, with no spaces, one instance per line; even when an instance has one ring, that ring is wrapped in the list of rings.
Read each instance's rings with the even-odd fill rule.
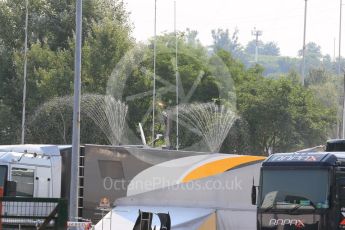
[[[130,229],[119,227],[125,222],[133,229],[140,207],[142,211],[153,213],[169,212],[174,230],[203,229],[196,224],[201,226],[206,221],[203,217],[209,215],[213,215],[217,230],[253,230],[256,228],[256,206],[251,204],[251,189],[253,179],[256,184],[259,182],[259,160],[253,156],[215,154],[153,166],[133,179],[129,190],[132,195],[115,201],[117,207],[108,214],[112,221],[108,220],[108,227],[103,229]],[[153,189],[152,186],[141,187],[152,185],[150,181],[155,182]],[[164,208],[157,210],[157,207]],[[97,226],[106,223],[106,219]]]

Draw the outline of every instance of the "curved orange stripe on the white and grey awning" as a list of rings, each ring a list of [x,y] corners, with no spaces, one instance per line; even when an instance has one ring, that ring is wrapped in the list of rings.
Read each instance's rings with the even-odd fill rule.
[[[263,161],[265,157],[258,156],[240,156],[230,157],[204,164],[193,171],[189,172],[182,180],[182,182],[188,182],[191,180],[197,180],[209,176],[213,176],[219,173],[223,173],[232,168],[238,167],[243,164],[252,163],[255,161]]]

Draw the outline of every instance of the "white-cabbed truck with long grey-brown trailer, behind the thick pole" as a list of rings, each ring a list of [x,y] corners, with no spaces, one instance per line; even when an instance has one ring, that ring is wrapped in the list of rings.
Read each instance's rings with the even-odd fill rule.
[[[23,202],[13,207],[12,200],[18,200],[14,198],[69,200],[71,152],[70,145],[0,145],[0,229],[5,214],[24,215],[25,210],[26,215],[49,216],[52,212],[51,208],[42,211],[42,207],[35,207],[32,202],[26,202],[27,209],[23,208]],[[83,145],[78,166],[78,217],[97,223],[116,199],[127,195],[128,184],[140,172],[161,162],[203,154],[207,153],[145,146]]]

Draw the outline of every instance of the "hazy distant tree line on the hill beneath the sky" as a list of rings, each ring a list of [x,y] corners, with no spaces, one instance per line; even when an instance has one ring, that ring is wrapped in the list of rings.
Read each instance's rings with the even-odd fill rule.
[[[280,48],[276,42],[263,42],[261,40],[249,41],[245,46],[239,43],[239,30],[235,29],[231,34],[229,30],[217,29],[212,31],[214,40],[213,48],[224,49],[231,52],[234,57],[240,59],[247,67],[253,65],[255,60],[255,50],[258,46],[258,63],[264,66],[264,75],[275,77],[279,74],[286,74],[290,70],[301,72],[302,50],[296,51],[296,57],[281,56]],[[335,59],[329,54],[323,54],[321,47],[315,42],[306,44],[305,52],[306,73],[312,74],[314,69],[325,70],[332,74],[338,74],[338,64],[344,66],[345,60]]]

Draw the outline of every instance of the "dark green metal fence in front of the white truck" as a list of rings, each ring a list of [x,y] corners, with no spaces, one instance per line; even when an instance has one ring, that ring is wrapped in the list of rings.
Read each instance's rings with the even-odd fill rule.
[[[66,229],[65,199],[0,197],[0,229]]]

